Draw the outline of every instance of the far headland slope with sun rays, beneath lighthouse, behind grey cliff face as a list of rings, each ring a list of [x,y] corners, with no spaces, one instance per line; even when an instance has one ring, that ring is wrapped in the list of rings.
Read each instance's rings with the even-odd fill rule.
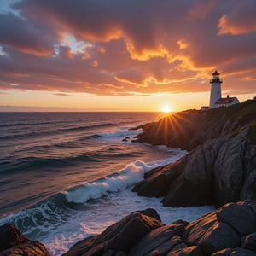
[[[253,122],[256,125],[255,115],[256,100],[228,108],[186,110],[137,127],[143,133],[134,141],[192,150],[209,139],[235,134]]]

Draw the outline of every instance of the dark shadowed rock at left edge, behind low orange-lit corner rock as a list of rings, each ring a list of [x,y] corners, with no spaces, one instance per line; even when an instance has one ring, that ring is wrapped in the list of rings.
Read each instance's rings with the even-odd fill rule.
[[[0,226],[0,251],[29,241],[14,224]]]

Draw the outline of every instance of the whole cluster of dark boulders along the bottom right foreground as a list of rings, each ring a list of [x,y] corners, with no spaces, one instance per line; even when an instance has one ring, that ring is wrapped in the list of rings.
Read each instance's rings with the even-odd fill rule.
[[[101,235],[79,242],[64,255],[256,256],[256,201],[227,204],[189,224],[177,220],[165,225],[144,213],[158,216],[152,209],[132,212]]]

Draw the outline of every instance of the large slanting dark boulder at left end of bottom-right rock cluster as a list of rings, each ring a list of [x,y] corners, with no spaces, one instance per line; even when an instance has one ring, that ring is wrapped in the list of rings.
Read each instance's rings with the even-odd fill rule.
[[[163,225],[154,209],[132,212],[100,236],[80,241],[64,255],[125,255],[148,232]]]

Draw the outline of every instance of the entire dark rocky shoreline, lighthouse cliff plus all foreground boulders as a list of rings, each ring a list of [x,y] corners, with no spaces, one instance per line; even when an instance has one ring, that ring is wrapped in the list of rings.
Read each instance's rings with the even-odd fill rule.
[[[64,255],[256,255],[256,100],[187,110],[137,128],[143,129],[137,142],[189,153],[147,172],[133,191],[162,197],[168,207],[218,209],[172,224],[163,224],[154,209],[132,212]],[[11,224],[0,227],[0,241],[0,255],[49,255]]]

